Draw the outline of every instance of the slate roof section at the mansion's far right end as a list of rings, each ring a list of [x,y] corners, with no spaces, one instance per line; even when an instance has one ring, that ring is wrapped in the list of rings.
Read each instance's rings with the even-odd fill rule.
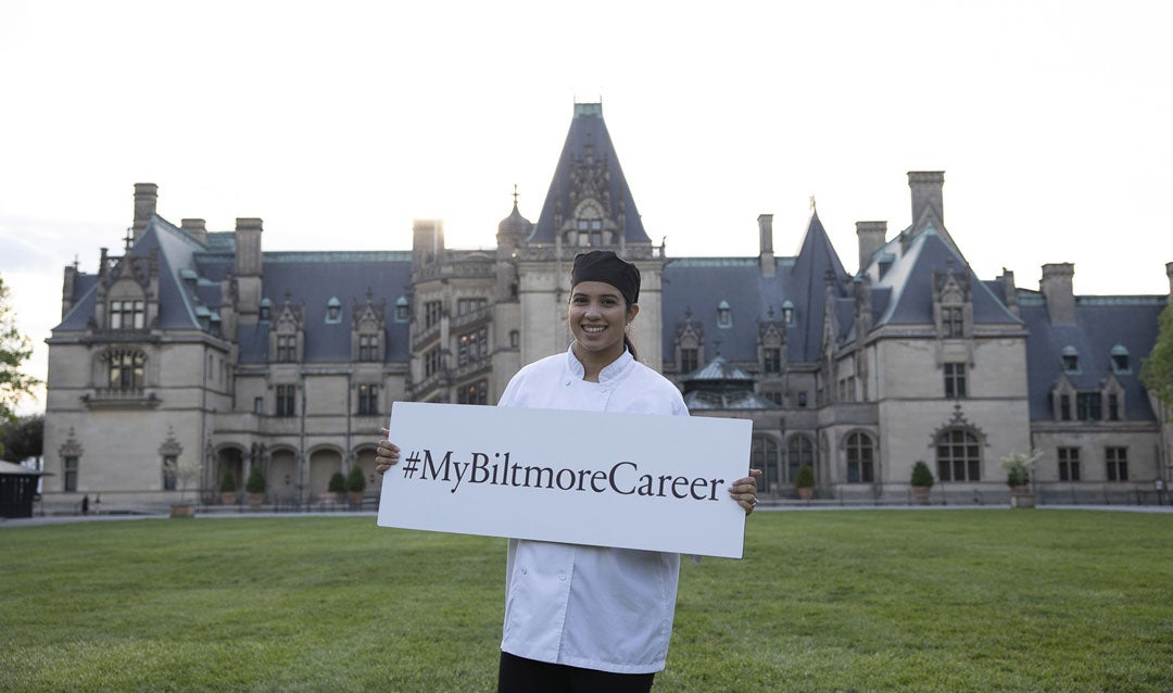
[[[1078,295],[1076,324],[1051,325],[1046,303],[1038,292],[1018,290],[1018,306],[1026,324],[1026,372],[1031,420],[1053,420],[1051,388],[1063,375],[1060,356],[1072,347],[1079,355],[1079,372],[1067,379],[1080,392],[1099,390],[1113,374],[1112,349],[1128,352],[1128,369],[1114,373],[1124,386],[1124,419],[1152,421],[1157,417],[1144,385],[1140,360],[1157,342],[1158,318],[1165,307],[1164,295]],[[1104,412],[1107,415],[1107,412]]]

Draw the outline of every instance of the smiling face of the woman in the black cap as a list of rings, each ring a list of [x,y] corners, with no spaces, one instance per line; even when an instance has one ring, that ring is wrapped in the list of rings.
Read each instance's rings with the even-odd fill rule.
[[[623,354],[623,331],[636,318],[639,306],[628,306],[619,290],[603,281],[581,281],[570,291],[568,320],[575,335],[579,360],[591,359],[603,366]]]

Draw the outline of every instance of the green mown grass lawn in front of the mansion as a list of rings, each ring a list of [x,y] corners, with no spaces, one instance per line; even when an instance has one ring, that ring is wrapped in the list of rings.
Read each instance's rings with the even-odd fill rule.
[[[373,517],[0,528],[0,691],[491,691],[503,539]],[[759,512],[656,691],[1171,691],[1173,515]]]

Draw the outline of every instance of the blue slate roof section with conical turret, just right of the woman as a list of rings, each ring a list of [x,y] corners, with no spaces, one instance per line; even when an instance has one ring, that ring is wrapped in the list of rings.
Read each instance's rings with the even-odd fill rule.
[[[716,351],[719,341],[720,353],[731,361],[757,361],[758,322],[780,321],[782,305],[789,301],[794,321],[786,327],[788,359],[818,361],[827,273],[838,295],[847,292],[847,273],[819,215],[812,215],[799,254],[775,258],[774,267],[774,276],[765,277],[758,258],[670,259],[664,266],[663,359],[676,360],[676,327],[691,311],[692,320],[704,327],[706,346]],[[732,315],[728,327],[717,325],[723,300]]]

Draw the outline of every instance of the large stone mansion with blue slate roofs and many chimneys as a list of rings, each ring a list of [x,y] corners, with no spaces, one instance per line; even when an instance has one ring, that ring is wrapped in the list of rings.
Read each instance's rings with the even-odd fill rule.
[[[255,467],[270,503],[313,501],[355,466],[374,482],[392,402],[493,405],[522,365],[567,348],[586,247],[639,266],[640,360],[694,415],[753,420],[764,495],[792,497],[806,462],[816,497],[900,502],[923,460],[935,502],[1004,502],[998,461],[1029,449],[1044,502],[1151,490],[1171,437],[1138,373],[1169,297],[1073,295],[1070,264],[1044,265],[1037,290],[977,278],[943,182],[908,174],[897,232],[856,224],[854,273],[818,213],[793,257],[774,253],[771,215],[755,257],[666,257],[596,103],[575,104],[537,220],[515,198],[493,251],[449,249],[441,222],[420,220],[409,251],[265,252],[262,219],[176,225],[136,184],[121,254],[65,269],[45,507],[216,503],[225,474],[243,488]]]

